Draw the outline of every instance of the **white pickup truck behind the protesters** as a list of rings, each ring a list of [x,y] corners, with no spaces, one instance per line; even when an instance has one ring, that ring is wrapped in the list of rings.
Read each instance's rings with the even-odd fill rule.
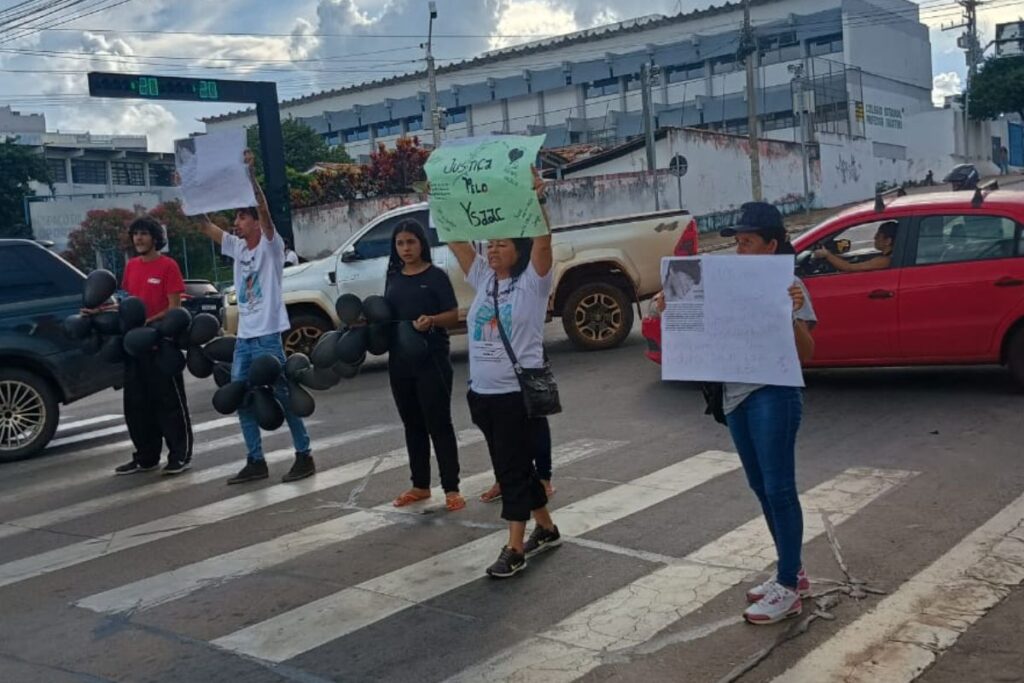
[[[292,328],[284,335],[287,353],[309,353],[322,334],[338,325],[334,302],[345,293],[366,298],[384,293],[391,232],[412,218],[428,225],[426,203],[381,214],[326,258],[285,269],[284,297]],[[569,339],[587,350],[617,346],[633,328],[633,305],[660,289],[660,261],[671,256],[693,219],[687,211],[559,225],[554,234],[554,286],[550,314],[562,318]],[[447,247],[431,239],[434,265],[447,272],[465,321],[473,300],[459,263]],[[227,291],[225,327],[238,329],[238,305]],[[463,330],[464,332],[465,330]]]

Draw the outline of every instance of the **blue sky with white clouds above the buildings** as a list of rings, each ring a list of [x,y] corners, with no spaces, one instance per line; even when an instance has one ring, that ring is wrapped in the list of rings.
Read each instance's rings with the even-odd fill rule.
[[[935,96],[958,92],[964,53],[952,0],[915,0],[932,27]],[[672,14],[712,0],[437,0],[439,63],[496,47],[637,15]],[[47,5],[26,23],[19,8]],[[642,6],[642,7],[641,7]],[[994,25],[1024,13],[992,0],[981,11],[984,41]],[[253,78],[283,97],[385,78],[421,66],[426,0],[0,0],[0,105],[46,115],[50,130],[146,134],[152,150],[203,130],[198,119],[231,108],[84,96],[89,71]],[[38,31],[38,28],[46,28]]]

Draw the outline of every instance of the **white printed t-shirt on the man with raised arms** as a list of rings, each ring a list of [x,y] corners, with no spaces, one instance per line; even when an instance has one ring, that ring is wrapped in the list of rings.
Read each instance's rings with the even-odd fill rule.
[[[239,339],[254,339],[288,330],[288,310],[281,293],[285,241],[260,236],[256,249],[245,240],[224,234],[220,253],[234,260],[234,291],[239,298]]]

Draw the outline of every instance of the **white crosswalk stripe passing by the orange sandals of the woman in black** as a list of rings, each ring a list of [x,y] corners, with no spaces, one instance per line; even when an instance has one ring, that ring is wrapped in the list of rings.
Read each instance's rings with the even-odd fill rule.
[[[459,444],[471,445],[483,440],[476,430],[466,430],[458,434]],[[625,441],[600,441],[582,439],[560,445],[552,452],[552,462],[556,467],[564,467],[581,458],[591,457],[625,445]],[[404,456],[404,449],[396,449],[384,456],[385,459]],[[465,492],[485,486],[494,480],[490,471],[465,477],[460,487]],[[427,506],[412,506],[422,512],[426,508],[443,507],[443,490],[433,490],[434,502]],[[437,502],[436,499],[441,502]],[[326,546],[354,539],[364,533],[385,528],[396,523],[390,505],[374,510],[360,510],[352,514],[331,519],[308,528],[288,533],[264,543],[195,562],[132,584],[83,598],[76,604],[97,612],[118,613],[138,612],[157,605],[177,600],[195,591],[210,586],[219,586],[256,571],[275,566],[310,553]]]

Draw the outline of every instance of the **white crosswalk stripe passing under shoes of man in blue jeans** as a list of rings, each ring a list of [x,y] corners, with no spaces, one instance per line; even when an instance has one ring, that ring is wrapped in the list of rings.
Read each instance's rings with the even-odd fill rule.
[[[307,427],[311,427],[314,424],[318,423],[316,421],[306,422]],[[377,436],[393,429],[394,427],[391,425],[372,425],[362,429],[355,429],[350,432],[344,432],[342,434],[337,434],[323,439],[321,447],[328,449],[343,445],[361,438]],[[290,434],[288,432],[280,434],[280,436],[289,435]],[[228,437],[226,440],[229,440],[231,443],[238,443],[243,441],[243,438],[242,436],[232,436]],[[267,464],[272,465],[274,463],[291,461],[294,456],[294,449],[279,449],[264,454],[263,457]],[[74,505],[65,506],[55,510],[46,510],[45,512],[40,512],[35,515],[13,519],[9,522],[0,523],[0,539],[6,539],[26,531],[53,526],[54,524],[59,524],[60,522],[68,521],[70,519],[84,517],[85,515],[127,505],[128,503],[133,503],[135,501],[150,500],[155,496],[160,496],[161,494],[179,492],[187,486],[198,485],[208,481],[215,481],[234,474],[240,467],[241,466],[238,462],[230,462],[223,465],[217,465],[216,467],[196,470],[183,476],[162,477],[157,483],[145,484],[126,490],[119,490],[108,496],[89,499],[87,501],[75,503]],[[110,476],[109,472],[106,476]]]

